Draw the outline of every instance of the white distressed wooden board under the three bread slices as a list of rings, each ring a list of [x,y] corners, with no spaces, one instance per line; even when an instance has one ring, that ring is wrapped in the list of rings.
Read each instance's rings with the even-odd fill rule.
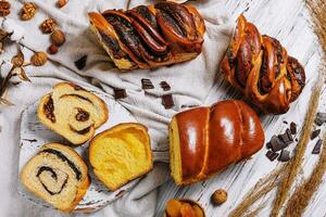
[[[98,97],[100,97],[108,105],[109,108],[109,120],[102,125],[100,128],[96,130],[96,135],[109,129],[110,127],[121,124],[121,123],[136,123],[135,117],[121,104],[118,104],[115,100],[108,97],[104,93],[91,91]],[[37,117],[37,106],[38,101],[29,105],[22,113],[22,124],[21,124],[21,149],[20,149],[20,173],[24,165],[34,156],[39,148],[45,143],[49,142],[59,142],[63,144],[68,144],[68,142],[62,138],[61,136],[54,133],[46,126],[43,126]],[[88,171],[91,178],[91,184],[83,197],[80,203],[75,208],[76,212],[87,210],[93,212],[97,210],[104,205],[117,200],[124,193],[126,193],[131,187],[134,187],[139,179],[136,179],[121,189],[112,192],[109,191],[93,175],[92,169],[88,162],[88,142],[83,144],[82,146],[75,148],[75,150],[83,156],[85,162],[88,165]],[[21,183],[21,182],[20,182]],[[43,201],[38,197],[32,195],[29,192],[25,190],[22,183],[18,186],[18,192],[26,199],[33,201],[36,204],[40,204],[42,206],[50,207]]]

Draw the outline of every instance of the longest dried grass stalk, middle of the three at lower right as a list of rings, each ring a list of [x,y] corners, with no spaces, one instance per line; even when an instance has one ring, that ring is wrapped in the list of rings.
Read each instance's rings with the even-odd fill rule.
[[[303,155],[306,150],[306,145],[310,140],[310,132],[313,127],[315,114],[318,106],[318,101],[321,97],[322,91],[322,79],[317,79],[317,85],[315,89],[312,91],[312,98],[309,103],[309,110],[305,115],[305,119],[303,123],[302,133],[300,136],[300,140],[298,142],[298,145],[296,148],[296,155],[288,163],[288,173],[287,175],[283,176],[283,179],[280,180],[280,183],[278,186],[278,191],[276,194],[276,199],[274,201],[274,207],[272,209],[272,217],[277,217],[281,206],[286,202],[287,195],[289,193],[289,190],[296,180],[296,177],[301,168],[301,164],[303,162]]]

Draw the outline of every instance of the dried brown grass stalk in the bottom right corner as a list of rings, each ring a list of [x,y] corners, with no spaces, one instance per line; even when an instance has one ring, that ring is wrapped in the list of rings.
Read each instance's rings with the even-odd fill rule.
[[[326,171],[326,133],[324,135],[323,151],[318,163],[315,165],[311,176],[299,186],[288,202],[284,216],[300,217],[311,201],[314,192],[318,189]]]

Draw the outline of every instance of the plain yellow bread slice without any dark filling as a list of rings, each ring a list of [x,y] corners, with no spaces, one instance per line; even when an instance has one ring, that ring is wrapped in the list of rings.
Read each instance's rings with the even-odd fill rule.
[[[90,141],[89,162],[111,191],[147,174],[153,167],[147,128],[126,123],[97,135]]]

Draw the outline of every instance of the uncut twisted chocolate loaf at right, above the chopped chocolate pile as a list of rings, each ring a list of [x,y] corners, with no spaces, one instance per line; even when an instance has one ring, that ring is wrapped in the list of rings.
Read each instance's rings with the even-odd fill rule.
[[[221,62],[226,79],[265,113],[283,114],[305,85],[302,65],[278,40],[261,36],[243,15]]]

